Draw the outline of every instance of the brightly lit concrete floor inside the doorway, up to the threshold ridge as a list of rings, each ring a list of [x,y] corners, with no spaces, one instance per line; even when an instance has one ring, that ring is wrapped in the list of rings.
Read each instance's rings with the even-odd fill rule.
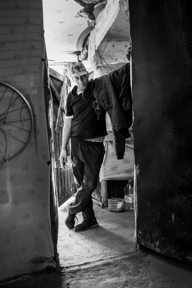
[[[64,224],[67,217],[65,205],[58,208],[58,253],[61,266],[82,265],[134,251],[134,211],[112,212],[97,205],[94,205],[94,211],[99,226],[84,232],[75,232],[67,229]],[[82,213],[76,216],[78,223],[81,223]]]

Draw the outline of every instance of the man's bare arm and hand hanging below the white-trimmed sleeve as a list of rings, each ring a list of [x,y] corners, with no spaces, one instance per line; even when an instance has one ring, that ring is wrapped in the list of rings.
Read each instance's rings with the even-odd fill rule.
[[[61,147],[61,155],[60,155],[60,162],[63,169],[67,166],[67,145],[69,143],[69,139],[71,136],[71,122],[72,118],[65,119],[64,126],[63,126],[63,139],[62,139],[62,147]]]

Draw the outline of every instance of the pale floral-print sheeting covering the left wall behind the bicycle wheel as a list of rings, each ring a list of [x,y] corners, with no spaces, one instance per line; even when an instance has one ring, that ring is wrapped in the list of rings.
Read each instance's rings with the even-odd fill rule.
[[[0,282],[6,282],[55,266],[55,261],[49,217],[42,1],[1,1],[0,14],[0,80],[22,93],[35,117],[29,145],[7,162],[0,178]],[[0,164],[0,172],[4,165]]]

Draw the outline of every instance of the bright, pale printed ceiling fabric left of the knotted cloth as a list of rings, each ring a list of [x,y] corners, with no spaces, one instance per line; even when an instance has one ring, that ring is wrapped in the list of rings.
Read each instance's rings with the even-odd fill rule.
[[[44,37],[49,64],[51,62],[77,62],[77,56],[73,52],[81,50],[82,42],[94,28],[95,21],[91,23],[88,17],[80,16],[82,13],[79,12],[83,7],[78,2],[43,0]],[[102,0],[84,2],[85,4],[94,2],[95,16],[105,7]],[[101,8],[98,9],[98,7]]]

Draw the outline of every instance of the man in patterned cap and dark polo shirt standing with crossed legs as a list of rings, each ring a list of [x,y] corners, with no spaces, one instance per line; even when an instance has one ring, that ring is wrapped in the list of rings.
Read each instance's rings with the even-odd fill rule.
[[[98,226],[91,194],[97,187],[105,154],[103,141],[107,135],[106,111],[92,95],[85,66],[74,63],[71,74],[76,85],[67,95],[60,161],[65,169],[67,145],[71,138],[71,159],[77,192],[74,201],[67,204],[65,225],[72,229],[77,220],[76,214],[82,212],[82,223],[74,227],[76,232],[80,232]]]

